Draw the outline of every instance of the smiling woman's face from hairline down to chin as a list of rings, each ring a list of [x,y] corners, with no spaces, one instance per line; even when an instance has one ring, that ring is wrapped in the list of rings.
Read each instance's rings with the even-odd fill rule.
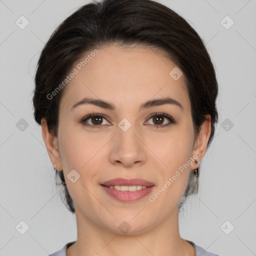
[[[176,214],[189,170],[198,166],[190,157],[202,158],[209,132],[194,143],[184,76],[170,72],[175,64],[158,51],[112,45],[92,55],[84,66],[79,63],[87,54],[75,63],[77,73],[72,68],[76,74],[62,95],[54,138],[59,151],[50,157],[63,169],[76,215],[114,232],[126,227],[139,233]],[[85,97],[112,108],[74,106]],[[163,98],[170,100],[153,101]],[[86,119],[89,114],[96,116]],[[143,193],[102,185],[115,178],[139,178],[153,186]]]

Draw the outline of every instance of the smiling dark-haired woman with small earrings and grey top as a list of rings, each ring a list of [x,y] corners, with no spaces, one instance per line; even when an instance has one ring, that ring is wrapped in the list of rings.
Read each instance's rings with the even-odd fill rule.
[[[210,256],[180,237],[217,121],[217,81],[198,34],[151,0],[83,5],[53,32],[34,118],[76,215],[54,256]]]

